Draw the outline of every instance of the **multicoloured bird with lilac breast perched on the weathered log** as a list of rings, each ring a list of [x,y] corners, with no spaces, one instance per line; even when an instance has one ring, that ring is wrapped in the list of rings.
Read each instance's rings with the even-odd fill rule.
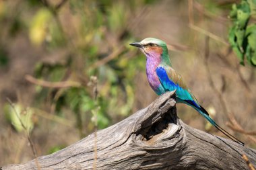
[[[156,94],[162,95],[166,91],[175,90],[177,103],[185,103],[191,106],[228,138],[244,145],[244,142],[241,142],[214,122],[207,111],[199,104],[181,75],[172,68],[166,42],[157,38],[145,38],[141,42],[133,42],[129,45],[139,48],[146,55],[148,83]]]

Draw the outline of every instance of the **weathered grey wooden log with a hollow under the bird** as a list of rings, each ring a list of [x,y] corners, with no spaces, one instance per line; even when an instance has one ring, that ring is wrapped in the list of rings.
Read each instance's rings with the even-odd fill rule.
[[[1,169],[249,169],[243,153],[256,165],[255,150],[184,124],[176,114],[174,92],[99,130],[95,141],[91,134],[37,161]]]

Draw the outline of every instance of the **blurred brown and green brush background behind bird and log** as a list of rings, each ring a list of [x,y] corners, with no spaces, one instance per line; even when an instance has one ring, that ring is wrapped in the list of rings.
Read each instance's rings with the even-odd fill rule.
[[[256,29],[236,34],[255,24],[255,9],[234,0],[0,0],[0,165],[58,151],[154,101],[146,57],[129,46],[148,37],[168,44],[214,120],[256,148]],[[187,105],[177,114],[223,136]]]

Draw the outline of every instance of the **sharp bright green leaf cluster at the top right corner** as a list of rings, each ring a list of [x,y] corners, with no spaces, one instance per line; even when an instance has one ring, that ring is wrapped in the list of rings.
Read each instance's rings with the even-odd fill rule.
[[[238,5],[233,4],[230,11],[233,26],[228,40],[241,65],[245,65],[246,57],[247,62],[256,66],[256,25],[249,24],[250,18],[256,16],[255,9],[255,0],[243,0]]]

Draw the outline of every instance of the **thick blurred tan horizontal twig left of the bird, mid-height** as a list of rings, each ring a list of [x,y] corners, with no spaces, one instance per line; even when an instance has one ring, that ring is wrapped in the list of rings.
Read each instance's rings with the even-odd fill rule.
[[[67,88],[67,87],[81,87],[81,83],[76,81],[59,81],[59,82],[50,82],[50,81],[44,81],[40,79],[36,79],[32,77],[31,75],[26,75],[25,79],[29,81],[30,83],[33,83],[35,85],[40,85],[42,87],[51,87],[51,88]]]

